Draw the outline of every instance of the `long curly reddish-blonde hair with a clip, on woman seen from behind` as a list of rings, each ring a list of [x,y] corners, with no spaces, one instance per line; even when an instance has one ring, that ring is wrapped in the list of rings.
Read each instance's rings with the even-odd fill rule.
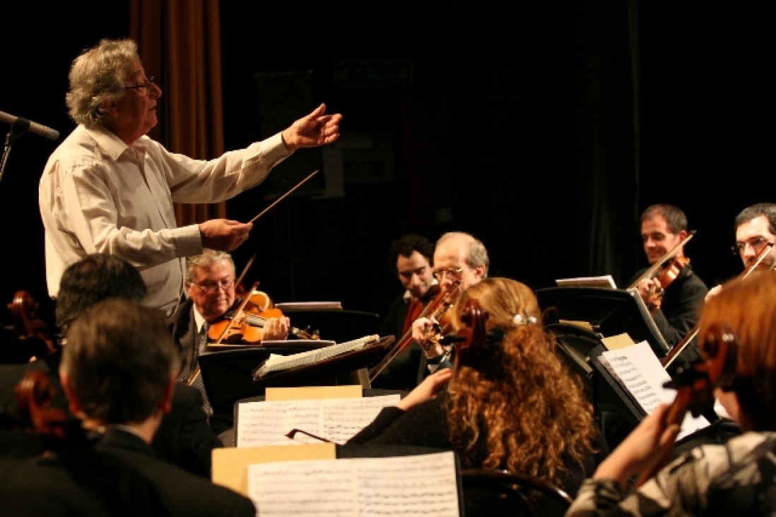
[[[462,292],[452,326],[465,325],[462,313],[476,300],[487,312],[485,329],[503,339],[479,343],[485,350],[456,357],[449,384],[450,441],[480,467],[507,468],[559,484],[571,458],[584,466],[594,449],[593,407],[584,388],[555,353],[556,341],[542,326],[533,291],[504,277],[490,277]],[[497,342],[495,342],[497,341]],[[484,436],[483,436],[484,435]]]

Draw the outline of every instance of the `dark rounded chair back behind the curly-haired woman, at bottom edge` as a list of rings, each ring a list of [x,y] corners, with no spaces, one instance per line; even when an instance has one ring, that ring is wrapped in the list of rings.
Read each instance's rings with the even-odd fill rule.
[[[466,517],[562,517],[573,501],[566,491],[548,481],[509,470],[463,468],[461,484]]]

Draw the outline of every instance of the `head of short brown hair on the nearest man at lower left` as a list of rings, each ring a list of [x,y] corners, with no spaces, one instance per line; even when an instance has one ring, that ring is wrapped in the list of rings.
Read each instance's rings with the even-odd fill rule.
[[[73,322],[60,371],[88,418],[122,424],[143,422],[160,408],[178,364],[157,311],[109,298]]]

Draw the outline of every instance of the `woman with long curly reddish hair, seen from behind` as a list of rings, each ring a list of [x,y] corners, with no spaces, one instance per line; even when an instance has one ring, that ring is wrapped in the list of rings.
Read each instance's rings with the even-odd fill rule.
[[[575,495],[608,453],[584,388],[525,284],[490,277],[467,288],[452,308],[456,329],[474,301],[488,339],[471,339],[452,370],[427,377],[348,444],[452,448],[464,467],[529,474]]]

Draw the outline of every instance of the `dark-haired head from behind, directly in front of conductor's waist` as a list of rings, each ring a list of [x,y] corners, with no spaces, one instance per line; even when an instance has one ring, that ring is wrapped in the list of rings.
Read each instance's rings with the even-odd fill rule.
[[[62,274],[54,314],[57,326],[67,333],[74,319],[107,298],[144,301],[146,285],[137,267],[108,253],[92,253]]]

